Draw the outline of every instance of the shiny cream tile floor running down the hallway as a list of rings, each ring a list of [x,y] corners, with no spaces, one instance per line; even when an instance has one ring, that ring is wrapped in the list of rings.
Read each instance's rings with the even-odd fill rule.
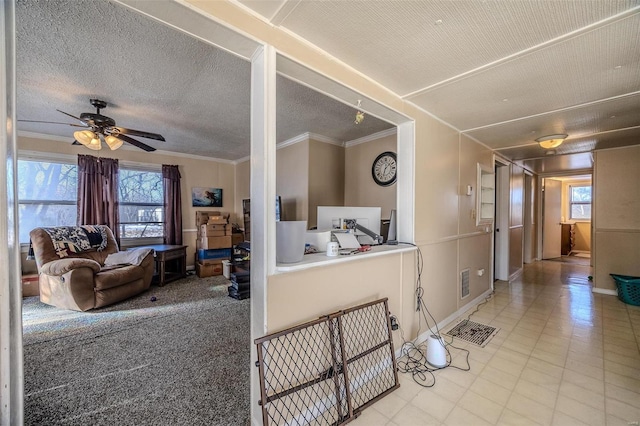
[[[351,424],[638,425],[640,307],[592,293],[591,271],[543,261],[497,281],[471,319],[498,334],[484,348],[454,342],[470,351],[470,371],[437,371],[432,388],[399,374],[400,388]]]

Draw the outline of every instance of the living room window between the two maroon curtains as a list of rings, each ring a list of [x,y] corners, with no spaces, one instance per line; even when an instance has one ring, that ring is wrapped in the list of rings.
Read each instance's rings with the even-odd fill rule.
[[[162,238],[162,172],[120,167],[120,238]]]

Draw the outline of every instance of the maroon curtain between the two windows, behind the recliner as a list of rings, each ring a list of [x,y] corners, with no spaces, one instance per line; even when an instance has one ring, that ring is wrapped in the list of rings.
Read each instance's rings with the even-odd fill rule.
[[[78,155],[78,225],[107,225],[120,246],[118,160]]]

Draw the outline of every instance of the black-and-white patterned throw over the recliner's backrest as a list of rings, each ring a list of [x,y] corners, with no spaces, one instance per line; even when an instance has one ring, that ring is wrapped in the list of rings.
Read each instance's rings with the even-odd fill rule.
[[[51,237],[59,257],[89,250],[102,251],[107,246],[106,225],[57,226],[43,229]]]

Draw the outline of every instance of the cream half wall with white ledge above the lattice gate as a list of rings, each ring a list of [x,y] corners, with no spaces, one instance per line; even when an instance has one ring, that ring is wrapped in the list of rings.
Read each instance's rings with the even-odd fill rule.
[[[301,262],[277,265],[267,280],[266,331],[385,297],[390,312],[411,324],[416,250],[410,244],[379,245],[348,256],[307,254]],[[394,333],[396,348],[399,344]]]

